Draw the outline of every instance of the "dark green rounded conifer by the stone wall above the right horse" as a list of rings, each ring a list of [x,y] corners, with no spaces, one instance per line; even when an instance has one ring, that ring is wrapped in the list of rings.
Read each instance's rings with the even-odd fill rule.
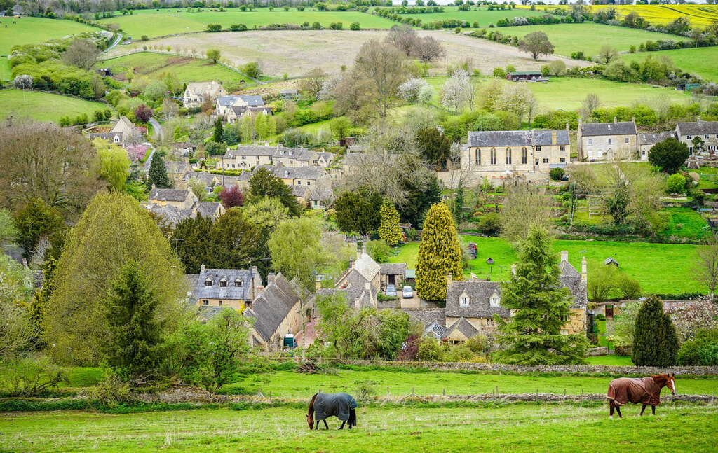
[[[671,318],[663,313],[663,302],[651,297],[643,302],[635,318],[633,364],[672,366],[678,360],[678,336]]]

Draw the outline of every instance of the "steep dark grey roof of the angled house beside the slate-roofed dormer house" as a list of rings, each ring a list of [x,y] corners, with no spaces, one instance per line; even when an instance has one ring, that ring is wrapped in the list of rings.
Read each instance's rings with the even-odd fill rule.
[[[274,277],[274,282],[269,282],[264,292],[252,301],[251,307],[245,310],[244,315],[256,319],[253,329],[266,342],[276,333],[279,325],[297,303],[297,291],[280,273]],[[284,332],[281,334],[284,335]]]

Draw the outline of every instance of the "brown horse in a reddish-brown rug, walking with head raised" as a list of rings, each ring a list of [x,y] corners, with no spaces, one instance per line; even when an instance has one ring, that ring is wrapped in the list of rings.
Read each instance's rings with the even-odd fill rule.
[[[613,409],[621,416],[620,406],[627,403],[643,404],[640,416],[643,416],[645,406],[651,406],[653,415],[656,415],[656,406],[661,404],[661,388],[668,387],[671,394],[676,394],[676,379],[672,374],[654,374],[648,378],[617,378],[608,386],[606,397],[609,400],[610,418],[613,418]]]

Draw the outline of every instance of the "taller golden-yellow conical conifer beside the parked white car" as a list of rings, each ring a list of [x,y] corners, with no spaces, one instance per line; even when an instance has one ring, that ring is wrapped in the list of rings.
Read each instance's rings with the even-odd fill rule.
[[[454,219],[443,202],[429,208],[416,260],[416,293],[424,300],[446,305],[447,275],[463,280],[461,246]]]

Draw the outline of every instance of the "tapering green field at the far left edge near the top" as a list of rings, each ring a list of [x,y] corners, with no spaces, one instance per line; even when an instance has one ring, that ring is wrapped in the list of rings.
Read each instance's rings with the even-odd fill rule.
[[[98,31],[79,22],[42,17],[0,18],[0,55],[7,55],[17,44],[34,44],[70,34]],[[17,22],[13,24],[12,22]],[[7,25],[7,27],[5,27]]]

